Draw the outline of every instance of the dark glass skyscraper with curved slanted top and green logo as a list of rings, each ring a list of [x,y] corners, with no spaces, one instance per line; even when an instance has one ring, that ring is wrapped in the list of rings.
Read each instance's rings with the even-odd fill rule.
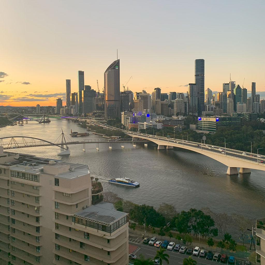
[[[104,73],[105,119],[120,118],[120,59],[114,61]]]

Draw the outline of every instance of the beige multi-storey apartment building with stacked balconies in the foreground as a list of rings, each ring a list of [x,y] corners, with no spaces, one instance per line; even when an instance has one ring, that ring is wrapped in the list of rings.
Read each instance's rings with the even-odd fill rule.
[[[89,166],[0,147],[0,264],[128,264],[127,214],[92,204]]]

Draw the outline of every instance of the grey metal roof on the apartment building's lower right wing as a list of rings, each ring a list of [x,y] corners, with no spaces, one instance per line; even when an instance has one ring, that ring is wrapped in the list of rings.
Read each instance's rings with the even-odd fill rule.
[[[127,213],[116,211],[112,203],[101,202],[74,214],[74,217],[110,226],[126,215]]]

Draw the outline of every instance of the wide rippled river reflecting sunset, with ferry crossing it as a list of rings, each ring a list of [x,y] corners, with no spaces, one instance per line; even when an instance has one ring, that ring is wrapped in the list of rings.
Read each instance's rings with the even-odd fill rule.
[[[6,126],[1,128],[0,137],[31,136],[54,142],[63,129],[70,140],[99,139],[90,135],[72,138],[70,130],[86,132],[76,123],[51,119],[51,123],[39,124],[29,121],[24,126]],[[138,143],[108,143],[69,145],[69,156],[58,156],[58,147],[32,147],[12,149],[20,153],[35,154],[40,157],[61,159],[70,162],[88,164],[91,176],[100,180],[115,177],[129,177],[140,183],[139,188],[124,187],[102,182],[104,191],[112,191],[124,200],[137,204],[148,204],[156,209],[163,202],[173,204],[178,211],[190,208],[209,207],[217,213],[242,214],[250,218],[265,216],[265,172],[251,170],[250,175],[228,176],[227,167],[202,154],[181,148],[160,150],[157,145]]]

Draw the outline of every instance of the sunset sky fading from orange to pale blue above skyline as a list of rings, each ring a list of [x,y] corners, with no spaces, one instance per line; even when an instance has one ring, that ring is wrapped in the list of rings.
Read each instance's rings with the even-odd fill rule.
[[[65,79],[102,92],[120,59],[120,85],[187,92],[194,60],[205,59],[205,89],[231,79],[265,96],[264,1],[0,0],[0,105],[56,105]],[[259,93],[258,93],[259,92]]]

